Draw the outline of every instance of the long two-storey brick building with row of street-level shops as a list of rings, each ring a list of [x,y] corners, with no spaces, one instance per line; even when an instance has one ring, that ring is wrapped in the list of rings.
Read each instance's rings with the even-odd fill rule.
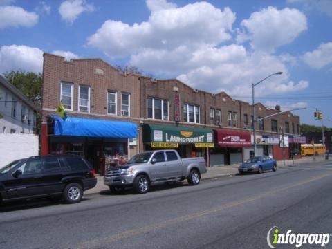
[[[98,126],[83,136],[54,131],[59,101],[70,117],[136,125],[137,138],[109,137]],[[255,104],[257,118],[280,112]],[[192,89],[179,80],[124,73],[101,59],[65,61],[44,54],[42,153],[80,152],[96,169],[106,156],[174,148],[181,156],[204,156],[208,165],[241,163],[252,155],[252,105],[226,93]],[[66,123],[67,120],[64,122]],[[106,123],[107,124],[107,123]],[[117,123],[115,123],[117,124]],[[289,158],[299,153],[299,117],[286,112],[257,122],[257,154]],[[287,147],[279,147],[284,133]],[[71,134],[73,135],[73,134]],[[288,145],[289,144],[289,145]],[[284,154],[282,154],[284,151]]]

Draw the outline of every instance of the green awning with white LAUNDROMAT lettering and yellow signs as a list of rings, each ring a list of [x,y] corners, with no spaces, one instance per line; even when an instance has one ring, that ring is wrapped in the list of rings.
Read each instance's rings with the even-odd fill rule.
[[[178,144],[195,144],[196,147],[213,147],[212,129],[145,124],[144,142],[151,147],[178,147]]]

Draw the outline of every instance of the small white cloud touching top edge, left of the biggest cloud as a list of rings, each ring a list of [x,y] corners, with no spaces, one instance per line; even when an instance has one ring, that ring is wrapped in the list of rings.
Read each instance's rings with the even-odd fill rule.
[[[59,7],[59,14],[62,19],[70,24],[73,24],[83,12],[93,11],[95,11],[93,4],[86,3],[84,0],[67,0],[61,3]]]

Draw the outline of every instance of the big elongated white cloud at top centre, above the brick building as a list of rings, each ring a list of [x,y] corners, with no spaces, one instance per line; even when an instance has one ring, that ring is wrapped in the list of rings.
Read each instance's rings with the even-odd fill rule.
[[[107,20],[89,37],[88,44],[109,57],[154,49],[173,50],[179,46],[216,45],[231,38],[234,20],[230,8],[220,10],[207,2],[192,3],[181,8],[158,9],[151,12],[148,21],[132,26]]]

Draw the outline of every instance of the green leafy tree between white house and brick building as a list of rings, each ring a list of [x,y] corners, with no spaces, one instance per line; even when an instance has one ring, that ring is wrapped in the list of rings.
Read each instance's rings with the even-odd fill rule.
[[[32,73],[26,71],[9,71],[3,76],[21,91],[26,97],[35,104],[36,107],[42,107],[42,73]],[[36,115],[36,126],[40,130],[42,126],[42,117],[38,112]]]

